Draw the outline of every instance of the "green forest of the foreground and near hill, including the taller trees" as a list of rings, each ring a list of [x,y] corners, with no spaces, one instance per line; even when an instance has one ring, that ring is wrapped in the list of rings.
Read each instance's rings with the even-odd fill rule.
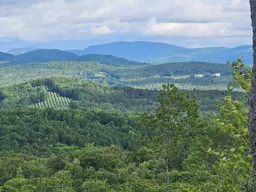
[[[233,75],[227,91],[69,77],[3,86],[0,191],[251,191],[251,72],[238,60]]]

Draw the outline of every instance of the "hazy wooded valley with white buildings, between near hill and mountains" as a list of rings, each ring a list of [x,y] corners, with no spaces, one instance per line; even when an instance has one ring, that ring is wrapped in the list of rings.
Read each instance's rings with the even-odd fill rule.
[[[94,61],[1,63],[0,86],[20,84],[39,77],[64,76],[139,89],[161,90],[162,84],[174,83],[183,90],[223,91],[234,80],[230,63],[181,62],[118,67],[123,60],[107,58],[103,64]],[[213,76],[215,73],[221,76]],[[196,77],[196,74],[204,76]]]

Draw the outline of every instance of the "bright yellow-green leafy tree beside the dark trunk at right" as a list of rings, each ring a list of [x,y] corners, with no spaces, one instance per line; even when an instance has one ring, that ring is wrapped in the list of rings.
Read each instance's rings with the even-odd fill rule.
[[[245,92],[251,90],[251,70],[245,68],[242,59],[233,63],[235,86]],[[217,157],[213,175],[216,176],[220,191],[251,191],[252,166],[250,155],[249,131],[247,129],[247,103],[245,98],[234,99],[228,87],[228,95],[223,99],[220,113],[214,119],[220,131],[220,144],[217,149],[209,149],[210,155]]]

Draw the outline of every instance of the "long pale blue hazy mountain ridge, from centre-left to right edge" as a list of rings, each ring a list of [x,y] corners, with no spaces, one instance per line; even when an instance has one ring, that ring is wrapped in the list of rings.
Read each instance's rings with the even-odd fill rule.
[[[114,55],[129,60],[148,63],[206,61],[226,63],[238,57],[244,57],[247,65],[252,64],[252,46],[243,45],[229,47],[203,47],[188,49],[186,47],[155,42],[115,42],[103,45],[89,46],[84,50],[69,50],[69,52],[84,54]]]

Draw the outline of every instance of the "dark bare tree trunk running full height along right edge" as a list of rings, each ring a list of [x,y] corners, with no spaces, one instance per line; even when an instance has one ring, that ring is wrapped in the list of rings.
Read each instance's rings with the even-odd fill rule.
[[[256,0],[250,0],[253,27],[253,78],[249,95],[248,124],[251,137],[251,154],[253,164],[253,192],[256,192]]]

